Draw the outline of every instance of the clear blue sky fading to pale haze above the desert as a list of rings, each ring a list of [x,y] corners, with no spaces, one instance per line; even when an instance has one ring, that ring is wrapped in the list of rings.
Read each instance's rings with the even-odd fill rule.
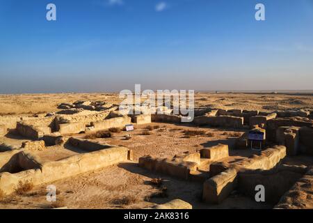
[[[313,90],[312,28],[313,0],[0,0],[0,93]]]

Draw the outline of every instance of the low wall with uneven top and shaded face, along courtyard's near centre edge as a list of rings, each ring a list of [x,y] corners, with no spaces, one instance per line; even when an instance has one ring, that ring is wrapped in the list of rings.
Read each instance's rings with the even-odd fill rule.
[[[144,156],[139,158],[139,167],[150,171],[157,171],[170,176],[176,176],[188,180],[191,170],[197,170],[198,164],[195,162],[172,161],[170,159],[153,158]]]

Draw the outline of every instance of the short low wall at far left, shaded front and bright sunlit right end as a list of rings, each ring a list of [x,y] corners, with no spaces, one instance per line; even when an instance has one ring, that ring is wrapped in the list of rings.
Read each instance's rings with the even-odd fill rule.
[[[16,129],[17,132],[19,132],[19,134],[31,139],[40,139],[45,134],[51,133],[51,129],[47,126],[27,125],[26,123],[23,122],[17,123]]]

